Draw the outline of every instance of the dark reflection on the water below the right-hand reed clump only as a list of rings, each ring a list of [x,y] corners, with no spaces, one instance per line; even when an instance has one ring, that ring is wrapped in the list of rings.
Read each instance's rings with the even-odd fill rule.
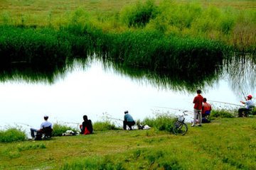
[[[218,81],[220,69],[215,69],[208,74],[193,74],[193,72],[166,72],[151,71],[149,69],[131,68],[122,64],[105,62],[105,69],[114,69],[116,74],[121,74],[140,83],[151,84],[158,89],[169,89],[172,91],[189,91],[205,89]]]

